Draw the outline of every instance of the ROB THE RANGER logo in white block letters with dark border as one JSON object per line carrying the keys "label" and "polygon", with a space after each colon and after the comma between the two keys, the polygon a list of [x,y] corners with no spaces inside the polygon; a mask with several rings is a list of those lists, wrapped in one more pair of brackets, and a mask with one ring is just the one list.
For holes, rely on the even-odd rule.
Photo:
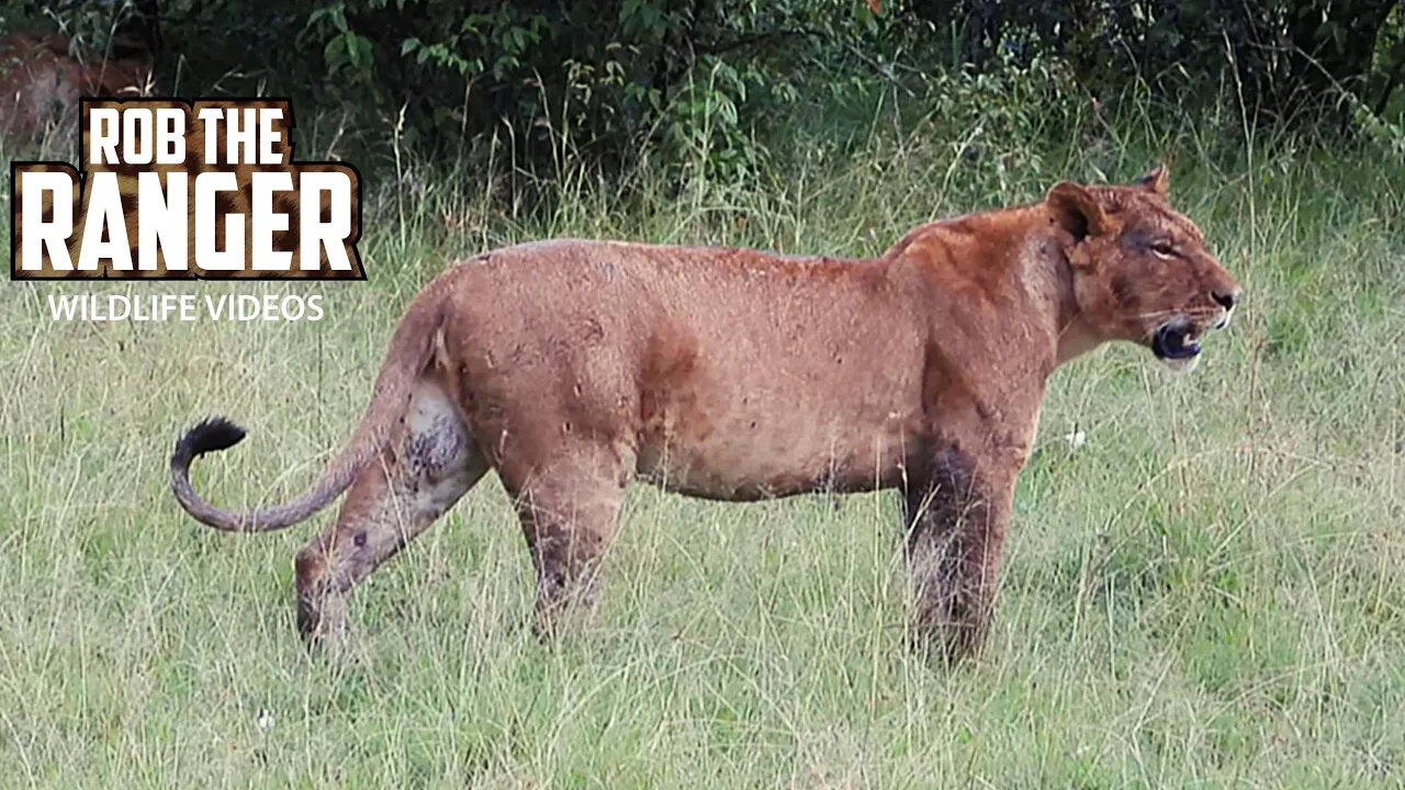
{"label": "ROB THE RANGER logo in white block letters with dark border", "polygon": [[[11,164],[13,280],[365,278],[360,174],[292,159],[288,101],[84,98],[80,112],[79,167]],[[76,304],[91,299],[110,298]]]}

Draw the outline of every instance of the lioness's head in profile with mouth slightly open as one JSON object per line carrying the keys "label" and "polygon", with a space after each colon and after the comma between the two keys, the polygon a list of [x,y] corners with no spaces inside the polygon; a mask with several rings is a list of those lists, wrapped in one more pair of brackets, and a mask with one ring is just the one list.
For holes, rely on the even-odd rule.
{"label": "lioness's head in profile with mouth slightly open", "polygon": [[1128,187],[1057,184],[1045,197],[1069,232],[1073,297],[1102,340],[1141,343],[1190,370],[1200,339],[1229,325],[1239,284],[1205,249],[1200,229],[1166,201],[1158,167]]}

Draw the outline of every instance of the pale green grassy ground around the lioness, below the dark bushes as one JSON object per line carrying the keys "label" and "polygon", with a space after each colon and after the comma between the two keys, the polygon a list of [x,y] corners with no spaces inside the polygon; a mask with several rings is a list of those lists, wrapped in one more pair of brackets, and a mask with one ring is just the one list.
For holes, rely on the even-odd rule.
{"label": "pale green grassy ground around the lioness, below the dark bushes", "polygon": [[[746,187],[641,176],[628,197],[566,167],[545,211],[506,179],[402,164],[368,201],[365,284],[6,283],[0,784],[1405,783],[1405,166],[1232,118],[962,139],[880,114],[851,150]],[[489,477],[358,590],[334,662],[303,651],[291,596],[292,554],[332,513],[218,534],[167,492],[171,441],[207,413],[250,427],[197,465],[212,500],[311,479],[455,254],[565,235],[877,254],[930,218],[1128,180],[1168,152],[1173,200],[1246,302],[1191,375],[1109,347],[1054,377],[972,665],[903,647],[892,493],[635,488],[599,626],[547,648]],[[153,290],[323,294],[327,318],[60,323],[44,302]]]}

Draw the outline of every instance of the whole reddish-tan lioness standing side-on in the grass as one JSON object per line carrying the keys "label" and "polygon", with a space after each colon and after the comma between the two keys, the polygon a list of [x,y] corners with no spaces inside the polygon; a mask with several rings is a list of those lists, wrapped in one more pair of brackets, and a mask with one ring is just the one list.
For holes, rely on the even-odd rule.
{"label": "whole reddish-tan lioness standing side-on in the grass", "polygon": [[1239,285],[1166,201],[1055,186],[1044,201],[923,225],[882,257],[785,257],[561,240],[481,254],[400,320],[350,443],[287,505],[235,513],[176,444],[171,488],[230,531],[295,524],[350,486],[296,557],[298,627],[341,635],[347,596],[489,468],[537,571],[540,634],[589,613],[625,485],[754,500],[901,488],[915,634],[960,658],[991,620],[1014,478],[1054,370],[1107,340],[1190,368]]}

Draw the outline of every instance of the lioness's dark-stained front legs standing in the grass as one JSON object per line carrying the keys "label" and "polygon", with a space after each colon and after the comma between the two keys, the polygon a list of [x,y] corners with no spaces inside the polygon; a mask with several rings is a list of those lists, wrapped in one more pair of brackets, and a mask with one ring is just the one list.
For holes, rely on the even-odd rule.
{"label": "lioness's dark-stained front legs standing in the grass", "polygon": [[948,661],[971,656],[991,626],[1014,470],[958,450],[936,453],[905,499],[913,635]]}

